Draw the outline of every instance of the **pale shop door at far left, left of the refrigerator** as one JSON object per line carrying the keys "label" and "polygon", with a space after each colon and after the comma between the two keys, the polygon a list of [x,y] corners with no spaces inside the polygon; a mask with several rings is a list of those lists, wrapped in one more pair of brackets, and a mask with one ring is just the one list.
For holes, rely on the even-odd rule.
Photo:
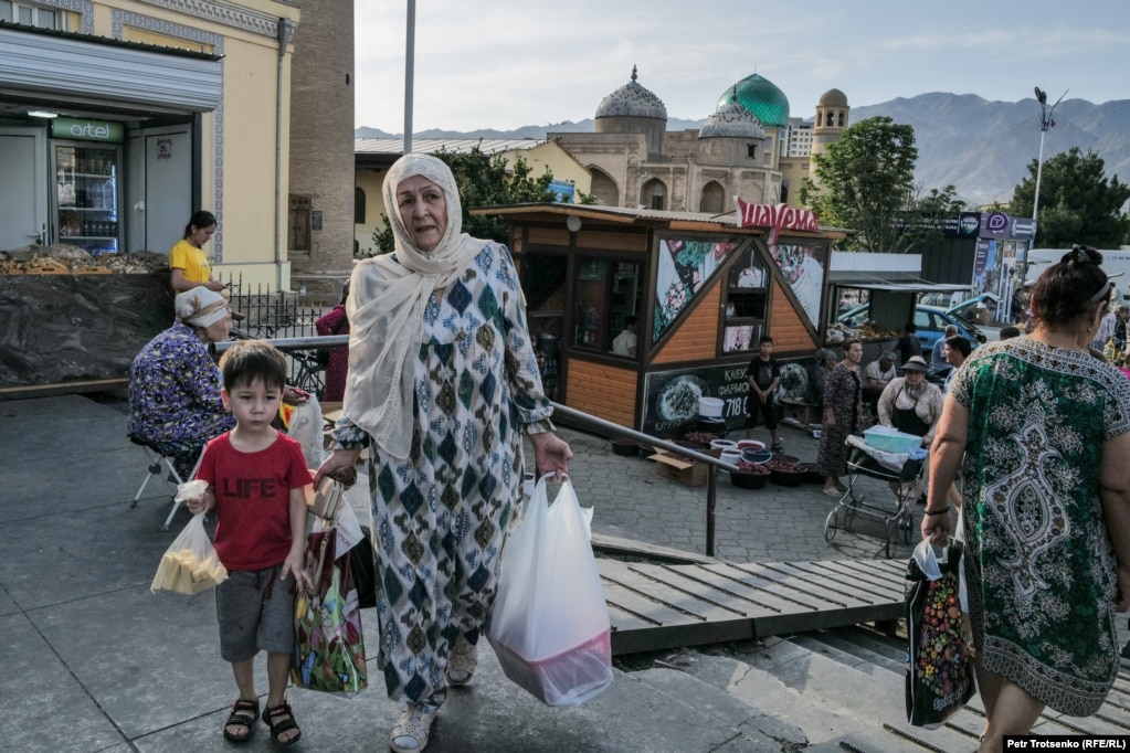
{"label": "pale shop door at far left, left of the refrigerator", "polygon": [[46,159],[42,131],[0,129],[0,249],[49,243]]}

